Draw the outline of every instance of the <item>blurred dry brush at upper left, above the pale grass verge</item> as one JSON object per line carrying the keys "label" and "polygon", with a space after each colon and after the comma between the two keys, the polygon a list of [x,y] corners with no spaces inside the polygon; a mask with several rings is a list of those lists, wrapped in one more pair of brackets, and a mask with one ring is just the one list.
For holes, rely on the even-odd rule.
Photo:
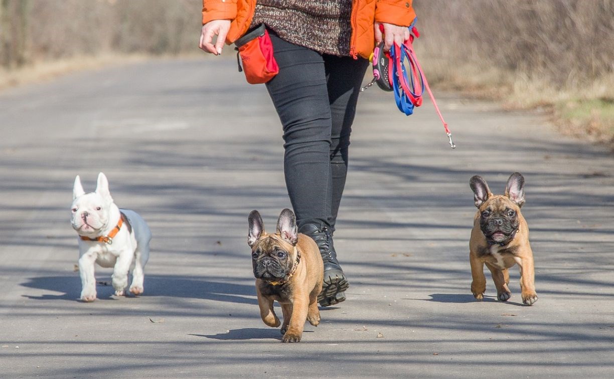
{"label": "blurred dry brush at upper left, above the pale grass verge", "polygon": [[[0,55],[17,49],[26,57],[22,62],[5,62],[6,67],[71,56],[195,51],[201,26],[201,0],[0,0],[0,4]],[[23,34],[25,42],[15,47]]]}

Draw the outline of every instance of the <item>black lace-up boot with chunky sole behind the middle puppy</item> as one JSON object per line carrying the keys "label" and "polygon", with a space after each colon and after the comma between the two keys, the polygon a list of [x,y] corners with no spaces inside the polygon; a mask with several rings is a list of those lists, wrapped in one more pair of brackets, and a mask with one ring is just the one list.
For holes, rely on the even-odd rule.
{"label": "black lace-up boot with chunky sole behind the middle puppy", "polygon": [[345,290],[348,289],[349,282],[337,261],[330,228],[325,225],[305,224],[298,231],[308,235],[316,242],[320,255],[322,255],[322,261],[324,261],[324,283],[322,283],[322,292],[317,296],[317,302],[322,307],[328,307],[328,305],[344,301],[346,299]]}

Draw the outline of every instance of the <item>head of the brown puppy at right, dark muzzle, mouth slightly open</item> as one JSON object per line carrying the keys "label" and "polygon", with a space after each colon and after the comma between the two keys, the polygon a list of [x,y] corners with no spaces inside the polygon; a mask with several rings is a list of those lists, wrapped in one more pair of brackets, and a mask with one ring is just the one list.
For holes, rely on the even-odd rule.
{"label": "head of the brown puppy at right, dark muzzle, mouth slightly open", "polygon": [[490,243],[510,242],[518,231],[520,207],[524,204],[524,177],[515,172],[504,195],[494,195],[486,180],[475,175],[470,180],[475,206],[480,212],[480,229]]}

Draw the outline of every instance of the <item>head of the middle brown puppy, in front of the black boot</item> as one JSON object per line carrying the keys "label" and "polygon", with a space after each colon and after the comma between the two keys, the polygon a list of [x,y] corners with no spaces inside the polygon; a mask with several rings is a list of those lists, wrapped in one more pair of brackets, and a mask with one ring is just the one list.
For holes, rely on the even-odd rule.
{"label": "head of the middle brown puppy, in front of the black boot", "polygon": [[260,213],[252,211],[248,218],[247,244],[252,248],[254,277],[263,280],[283,280],[290,274],[297,250],[298,232],[294,214],[284,209],[279,216],[276,234],[267,234]]}

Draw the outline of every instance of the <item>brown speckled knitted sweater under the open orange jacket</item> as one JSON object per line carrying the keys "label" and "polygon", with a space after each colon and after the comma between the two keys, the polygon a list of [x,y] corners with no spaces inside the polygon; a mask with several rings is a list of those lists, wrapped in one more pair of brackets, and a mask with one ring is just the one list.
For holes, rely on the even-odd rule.
{"label": "brown speckled knitted sweater under the open orange jacket", "polygon": [[251,26],[264,23],[292,44],[349,56],[351,12],[352,0],[258,0]]}

